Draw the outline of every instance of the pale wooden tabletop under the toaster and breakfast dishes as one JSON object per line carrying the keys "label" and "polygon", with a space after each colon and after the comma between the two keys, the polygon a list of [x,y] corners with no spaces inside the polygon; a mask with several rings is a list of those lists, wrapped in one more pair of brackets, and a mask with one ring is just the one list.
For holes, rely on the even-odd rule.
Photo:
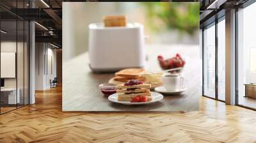
{"label": "pale wooden tabletop under the toaster and breakfast dishes", "polygon": [[[200,49],[197,45],[147,45],[146,70],[161,70],[157,55],[172,57],[177,52],[186,59],[182,72],[184,85],[188,90],[178,95],[164,95],[161,102],[150,105],[129,106],[112,103],[103,96],[98,86],[108,82],[114,73],[92,73],[88,67],[88,52],[65,60],[63,54],[63,111],[191,111],[198,110],[201,95],[202,66]],[[65,52],[65,48],[63,49]],[[67,54],[67,53],[66,53]]]}

